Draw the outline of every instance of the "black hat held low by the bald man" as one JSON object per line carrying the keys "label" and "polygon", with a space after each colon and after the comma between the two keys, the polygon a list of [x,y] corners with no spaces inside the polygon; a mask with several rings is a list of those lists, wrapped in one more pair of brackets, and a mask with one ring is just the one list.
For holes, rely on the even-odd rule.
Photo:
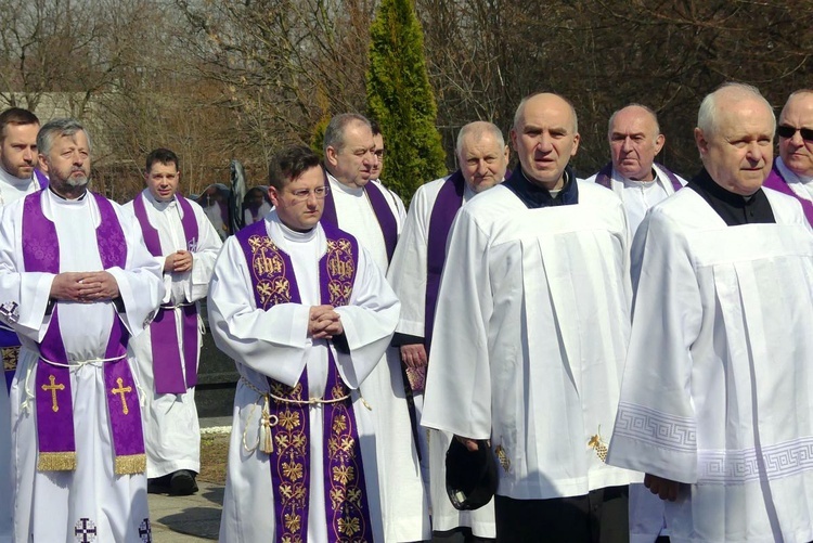
{"label": "black hat held low by the bald man", "polygon": [[477,440],[477,450],[469,451],[456,438],[446,453],[446,493],[459,510],[479,509],[496,492],[496,462],[491,445]]}

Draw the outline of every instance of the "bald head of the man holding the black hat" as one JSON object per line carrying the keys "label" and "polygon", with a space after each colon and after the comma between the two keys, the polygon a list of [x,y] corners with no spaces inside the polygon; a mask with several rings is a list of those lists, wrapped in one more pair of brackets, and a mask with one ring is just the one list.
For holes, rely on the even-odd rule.
{"label": "bald head of the man holding the black hat", "polygon": [[565,168],[579,148],[572,104],[549,92],[526,98],[514,115],[511,141],[529,181],[547,190],[560,189]]}

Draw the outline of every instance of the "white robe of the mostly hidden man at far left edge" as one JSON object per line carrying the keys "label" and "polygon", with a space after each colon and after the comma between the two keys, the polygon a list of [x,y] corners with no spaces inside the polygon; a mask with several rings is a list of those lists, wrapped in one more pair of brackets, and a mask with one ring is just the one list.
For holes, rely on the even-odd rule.
{"label": "white robe of the mostly hidden man at far left edge", "polygon": [[[11,204],[40,189],[37,177],[20,179],[0,167],[0,206]],[[0,326],[4,326],[0,323]],[[0,361],[2,355],[0,354]],[[11,482],[11,406],[5,383],[0,383],[0,495],[10,496]],[[0,502],[0,543],[10,543],[12,534],[11,500]]]}

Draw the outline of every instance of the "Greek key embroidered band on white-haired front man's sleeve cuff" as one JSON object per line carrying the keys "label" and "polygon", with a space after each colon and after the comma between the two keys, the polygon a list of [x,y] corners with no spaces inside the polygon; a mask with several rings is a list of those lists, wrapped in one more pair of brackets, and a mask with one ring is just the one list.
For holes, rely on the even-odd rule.
{"label": "Greek key embroidered band on white-haired front man's sleeve cuff", "polygon": [[680,452],[697,450],[697,425],[692,418],[670,415],[634,403],[618,404],[614,434]]}

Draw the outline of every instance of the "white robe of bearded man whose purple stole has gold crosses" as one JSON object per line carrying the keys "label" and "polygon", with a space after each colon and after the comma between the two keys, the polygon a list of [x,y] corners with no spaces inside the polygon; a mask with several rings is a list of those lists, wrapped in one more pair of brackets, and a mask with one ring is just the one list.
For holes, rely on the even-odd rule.
{"label": "white robe of bearded man whose purple stole has gold crosses", "polygon": [[[113,302],[59,302],[60,329],[68,360],[104,359],[114,319],[121,319],[131,335],[142,332],[164,296],[160,269],[144,247],[136,220],[113,203],[127,241],[125,269],[111,268],[125,313]],[[42,211],[54,221],[60,242],[60,271],[102,269],[95,229],[100,223],[95,199],[64,201],[42,192]],[[20,305],[14,328],[23,349],[11,388],[12,467],[15,541],[75,543],[75,529],[89,519],[96,541],[141,543],[139,530],[149,517],[146,478],[115,475],[109,416],[102,362],[70,370],[77,468],[75,471],[37,470],[36,383],[38,349],[50,323],[46,314],[50,273],[26,272],[23,261],[23,202],[5,206],[0,219],[0,300]],[[134,360],[129,360],[132,367]]]}

